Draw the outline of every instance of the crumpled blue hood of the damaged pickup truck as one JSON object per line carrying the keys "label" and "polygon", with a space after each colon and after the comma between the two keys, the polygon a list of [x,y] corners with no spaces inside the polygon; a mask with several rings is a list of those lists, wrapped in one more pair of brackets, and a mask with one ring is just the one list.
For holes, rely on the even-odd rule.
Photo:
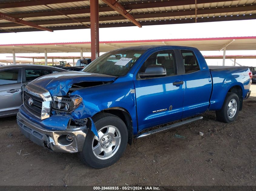
{"label": "crumpled blue hood of the damaged pickup truck", "polygon": [[45,75],[31,81],[29,84],[41,86],[42,88],[47,89],[52,96],[63,96],[67,95],[72,84],[86,81],[109,82],[114,81],[115,78],[117,77],[105,74],[72,71]]}

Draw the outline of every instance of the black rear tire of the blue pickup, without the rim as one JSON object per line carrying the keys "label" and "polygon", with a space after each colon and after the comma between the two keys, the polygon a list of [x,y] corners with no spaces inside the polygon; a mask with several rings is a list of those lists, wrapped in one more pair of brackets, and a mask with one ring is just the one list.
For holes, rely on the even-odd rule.
{"label": "black rear tire of the blue pickup, without the rim", "polygon": [[[228,116],[228,104],[232,99],[236,100],[237,110],[236,110],[236,113],[233,117],[229,117]],[[221,110],[216,111],[217,120],[220,121],[220,122],[224,122],[224,123],[233,122],[236,119],[237,115],[238,115],[239,107],[240,107],[240,101],[239,101],[239,98],[238,98],[237,94],[228,92],[227,96],[224,100],[224,103],[223,103],[223,106],[222,106]]]}

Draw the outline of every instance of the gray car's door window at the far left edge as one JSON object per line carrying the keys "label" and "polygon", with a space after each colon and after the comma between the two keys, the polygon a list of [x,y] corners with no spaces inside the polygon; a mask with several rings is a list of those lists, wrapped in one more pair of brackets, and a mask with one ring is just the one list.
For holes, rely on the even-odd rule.
{"label": "gray car's door window at the far left edge", "polygon": [[0,71],[0,85],[14,84],[18,82],[19,69]]}

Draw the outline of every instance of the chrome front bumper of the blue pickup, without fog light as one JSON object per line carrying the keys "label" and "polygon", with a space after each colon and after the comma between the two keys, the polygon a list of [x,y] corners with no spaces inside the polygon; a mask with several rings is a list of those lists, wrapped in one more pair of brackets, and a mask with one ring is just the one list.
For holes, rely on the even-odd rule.
{"label": "chrome front bumper of the blue pickup, without fog light", "polygon": [[[75,129],[74,131],[51,131],[44,129],[29,121],[20,112],[17,114],[17,123],[21,132],[32,142],[54,152],[76,153],[82,151],[88,132],[86,127]],[[67,145],[60,144],[59,137],[62,135],[71,135],[73,138],[72,142]]]}

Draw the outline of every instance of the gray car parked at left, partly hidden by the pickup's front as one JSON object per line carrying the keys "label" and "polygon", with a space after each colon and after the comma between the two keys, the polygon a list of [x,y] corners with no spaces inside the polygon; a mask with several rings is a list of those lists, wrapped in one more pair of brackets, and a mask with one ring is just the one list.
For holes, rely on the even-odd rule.
{"label": "gray car parked at left, partly hidden by the pickup's front", "polygon": [[22,89],[30,81],[47,74],[67,72],[62,68],[43,65],[7,65],[0,67],[0,117],[18,113]]}

